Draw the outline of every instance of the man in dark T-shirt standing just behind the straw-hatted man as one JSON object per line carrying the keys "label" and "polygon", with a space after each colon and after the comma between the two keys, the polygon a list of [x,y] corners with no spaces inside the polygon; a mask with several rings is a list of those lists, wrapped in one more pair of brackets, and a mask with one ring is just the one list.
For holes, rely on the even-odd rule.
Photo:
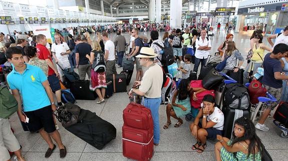
{"label": "man in dark T-shirt standing just behind the straw-hatted man", "polygon": [[[137,28],[133,28],[132,29],[132,36],[135,37],[134,43],[135,43],[135,47],[132,49],[132,51],[130,52],[130,54],[127,56],[128,58],[134,57],[139,55],[141,48],[144,46],[141,38],[138,36],[138,32],[139,30]],[[142,70],[142,66],[140,65],[140,61],[139,58],[136,57],[135,59],[136,62],[136,81],[140,81],[143,77],[143,70]]]}

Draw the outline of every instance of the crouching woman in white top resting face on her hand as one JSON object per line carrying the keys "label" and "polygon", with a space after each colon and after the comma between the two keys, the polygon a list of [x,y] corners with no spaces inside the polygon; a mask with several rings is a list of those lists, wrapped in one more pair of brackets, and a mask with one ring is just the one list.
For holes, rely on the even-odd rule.
{"label": "crouching woman in white top resting face on her hand", "polygon": [[[201,122],[200,118],[202,118]],[[205,95],[203,107],[194,122],[190,124],[192,136],[197,140],[197,143],[192,146],[192,150],[202,153],[207,146],[207,138],[215,140],[217,135],[222,135],[223,126],[224,115],[222,111],[215,107],[215,100],[212,95]]]}

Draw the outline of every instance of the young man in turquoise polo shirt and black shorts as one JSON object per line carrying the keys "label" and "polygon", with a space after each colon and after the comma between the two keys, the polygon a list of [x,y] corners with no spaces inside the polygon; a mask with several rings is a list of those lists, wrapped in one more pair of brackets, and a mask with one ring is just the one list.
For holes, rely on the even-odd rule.
{"label": "young man in turquoise polo shirt and black shorts", "polygon": [[55,128],[52,110],[55,111],[56,106],[47,76],[39,67],[24,63],[20,49],[10,47],[5,55],[14,66],[13,71],[7,76],[7,81],[18,101],[17,114],[20,120],[28,123],[31,131],[39,131],[47,142],[49,149],[45,158],[49,158],[56,148],[51,137],[58,144],[60,158],[64,158],[67,152]]}

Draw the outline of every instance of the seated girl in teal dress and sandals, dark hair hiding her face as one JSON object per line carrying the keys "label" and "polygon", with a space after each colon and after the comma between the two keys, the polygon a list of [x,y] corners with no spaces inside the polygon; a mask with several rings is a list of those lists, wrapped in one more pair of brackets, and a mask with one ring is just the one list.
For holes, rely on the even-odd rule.
{"label": "seated girl in teal dress and sandals, dark hair hiding her face", "polygon": [[175,128],[183,124],[181,117],[184,117],[191,111],[189,98],[191,91],[190,81],[182,79],[179,88],[173,94],[172,103],[166,107],[167,123],[163,126],[164,129],[168,129],[169,125],[171,125],[170,116],[178,120],[177,124],[174,125]]}

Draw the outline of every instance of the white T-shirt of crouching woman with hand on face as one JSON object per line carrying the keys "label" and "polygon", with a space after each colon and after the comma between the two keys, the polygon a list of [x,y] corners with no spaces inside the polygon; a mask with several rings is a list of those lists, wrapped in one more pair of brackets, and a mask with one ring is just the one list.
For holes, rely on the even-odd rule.
{"label": "white T-shirt of crouching woman with hand on face", "polygon": [[207,121],[212,121],[216,123],[216,125],[213,126],[213,128],[217,130],[223,130],[224,127],[224,115],[218,107],[214,107],[214,112],[207,116]]}

